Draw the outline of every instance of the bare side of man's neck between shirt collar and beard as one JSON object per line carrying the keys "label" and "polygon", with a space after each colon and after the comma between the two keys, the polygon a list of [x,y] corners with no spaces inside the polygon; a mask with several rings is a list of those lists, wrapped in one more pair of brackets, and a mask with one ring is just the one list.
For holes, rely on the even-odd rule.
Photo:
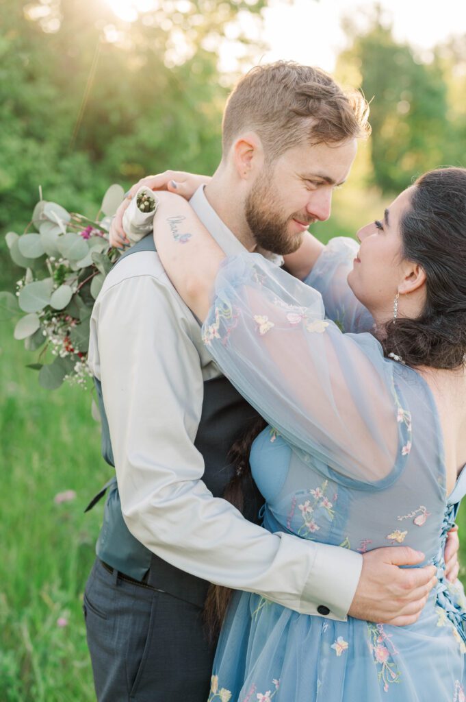
{"label": "bare side of man's neck between shirt collar and beard", "polygon": [[220,169],[204,188],[207,202],[245,249],[254,251],[256,242],[245,218],[245,202],[236,183]]}

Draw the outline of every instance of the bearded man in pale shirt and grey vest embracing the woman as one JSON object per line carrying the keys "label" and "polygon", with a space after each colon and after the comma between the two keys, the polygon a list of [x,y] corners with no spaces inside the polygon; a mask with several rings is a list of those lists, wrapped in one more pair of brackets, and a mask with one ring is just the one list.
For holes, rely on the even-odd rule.
{"label": "bearded man in pale shirt and grey vest embracing the woman", "polygon": [[[257,67],[228,100],[221,164],[191,205],[227,254],[294,251],[310,223],[329,217],[367,131],[364,100],[320,70]],[[151,243],[118,262],[92,313],[90,365],[118,488],[107,497],[84,610],[100,701],[205,702],[214,654],[203,629],[207,582],[307,614],[407,624],[434,569],[399,569],[422,561],[409,548],[359,555],[270,534],[221,499],[233,472],[228,449],[256,413],[220,376]],[[248,503],[254,519],[252,495]]]}

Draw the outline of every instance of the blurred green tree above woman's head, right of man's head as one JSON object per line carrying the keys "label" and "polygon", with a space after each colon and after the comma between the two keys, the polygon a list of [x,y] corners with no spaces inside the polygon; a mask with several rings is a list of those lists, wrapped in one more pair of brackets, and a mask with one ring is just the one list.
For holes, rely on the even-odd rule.
{"label": "blurred green tree above woman's head, right of man's head", "polygon": [[376,11],[369,30],[357,35],[346,25],[352,46],[341,54],[338,71],[359,70],[364,95],[371,100],[371,182],[398,192],[413,176],[445,163],[451,131],[448,91],[436,58],[423,62],[413,49],[392,37]]}

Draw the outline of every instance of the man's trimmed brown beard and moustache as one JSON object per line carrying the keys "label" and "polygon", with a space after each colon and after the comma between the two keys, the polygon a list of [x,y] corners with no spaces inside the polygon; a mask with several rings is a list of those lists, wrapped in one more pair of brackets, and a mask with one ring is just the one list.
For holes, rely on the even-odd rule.
{"label": "man's trimmed brown beard and moustache", "polygon": [[270,185],[273,176],[270,170],[256,180],[245,202],[245,217],[254,241],[258,246],[272,253],[285,254],[297,251],[303,242],[304,232],[289,234],[288,225],[296,216],[300,222],[310,220],[308,215],[294,213],[290,217],[275,211],[273,206],[278,201],[275,188]]}

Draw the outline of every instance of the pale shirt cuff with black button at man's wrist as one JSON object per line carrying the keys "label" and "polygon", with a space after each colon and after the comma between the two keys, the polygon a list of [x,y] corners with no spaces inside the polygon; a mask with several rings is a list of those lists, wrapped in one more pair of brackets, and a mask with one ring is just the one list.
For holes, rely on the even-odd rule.
{"label": "pale shirt cuff with black button at man's wrist", "polygon": [[340,546],[315,545],[315,559],[300,609],[308,614],[346,621],[361,576],[362,555]]}

